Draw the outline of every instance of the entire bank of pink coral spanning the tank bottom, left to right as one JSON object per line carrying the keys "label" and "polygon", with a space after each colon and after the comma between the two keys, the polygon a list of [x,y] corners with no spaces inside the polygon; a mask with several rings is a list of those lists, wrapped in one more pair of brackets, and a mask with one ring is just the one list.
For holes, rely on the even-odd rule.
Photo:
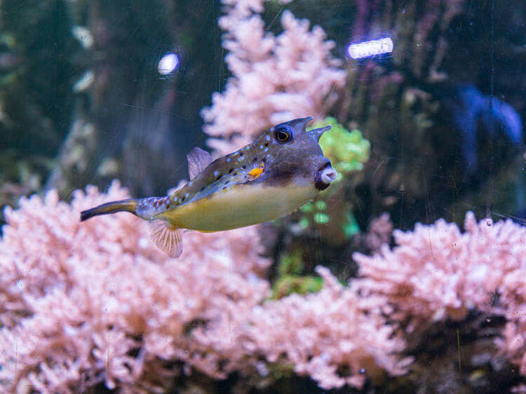
{"label": "entire bank of pink coral spanning the tank bottom, left to right", "polygon": [[[523,364],[526,229],[509,220],[477,223],[468,214],[464,233],[443,220],[395,231],[393,250],[354,254],[360,276],[349,287],[320,266],[310,289],[317,292],[271,300],[270,261],[259,255],[254,228],[187,233],[182,257],[166,259],[131,215],[79,224],[83,208],[126,196],[114,183],[107,194],[93,186],[76,191],[71,205],[50,191],[43,201],[22,198],[19,210],[6,209],[1,387],[163,392],[176,378],[238,372],[264,386],[294,373],[325,389],[359,388],[365,379],[382,384],[386,374],[405,374],[413,357],[403,352],[440,322],[473,321],[461,337],[471,363],[494,357],[464,333],[487,330],[468,313],[505,318],[495,345]],[[283,263],[282,277],[303,270],[300,254]],[[417,384],[412,374],[400,379],[390,384]]]}

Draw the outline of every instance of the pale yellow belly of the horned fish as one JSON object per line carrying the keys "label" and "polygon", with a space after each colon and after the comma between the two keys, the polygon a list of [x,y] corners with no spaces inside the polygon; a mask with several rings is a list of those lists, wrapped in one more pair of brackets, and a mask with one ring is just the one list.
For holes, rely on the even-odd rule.
{"label": "pale yellow belly of the horned fish", "polygon": [[163,212],[159,219],[197,231],[224,231],[277,219],[310,201],[314,186],[241,184]]}

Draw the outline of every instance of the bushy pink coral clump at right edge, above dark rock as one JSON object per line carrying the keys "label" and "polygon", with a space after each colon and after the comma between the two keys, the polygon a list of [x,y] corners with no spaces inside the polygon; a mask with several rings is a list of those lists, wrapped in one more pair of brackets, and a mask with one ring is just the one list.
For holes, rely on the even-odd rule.
{"label": "bushy pink coral clump at right edge, above dark rock", "polygon": [[388,297],[396,307],[393,317],[409,320],[409,330],[445,318],[461,320],[470,308],[489,311],[494,292],[504,301],[511,287],[520,291],[508,276],[526,269],[526,229],[511,220],[477,223],[472,212],[464,228],[461,233],[456,224],[439,219],[407,233],[394,231],[393,250],[384,245],[372,257],[353,254],[360,266],[359,286]]}

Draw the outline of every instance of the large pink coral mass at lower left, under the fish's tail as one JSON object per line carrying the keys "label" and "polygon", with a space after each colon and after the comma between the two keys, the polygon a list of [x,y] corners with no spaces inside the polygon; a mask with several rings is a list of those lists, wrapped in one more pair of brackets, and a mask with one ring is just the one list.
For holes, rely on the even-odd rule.
{"label": "large pink coral mass at lower left, under the fish's tail", "polygon": [[163,360],[208,368],[188,353],[184,332],[267,296],[255,272],[269,261],[259,257],[255,229],[186,233],[182,257],[167,259],[131,215],[79,223],[80,210],[126,197],[118,184],[105,195],[87,190],[72,205],[50,191],[44,201],[23,198],[20,210],[6,209],[0,382],[76,392],[105,381],[151,392],[175,374]]}

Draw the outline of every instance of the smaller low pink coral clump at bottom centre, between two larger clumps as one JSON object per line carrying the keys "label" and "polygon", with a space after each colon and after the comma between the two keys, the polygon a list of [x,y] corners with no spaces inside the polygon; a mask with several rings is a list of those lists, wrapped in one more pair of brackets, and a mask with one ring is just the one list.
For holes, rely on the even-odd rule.
{"label": "smaller low pink coral clump at bottom centre, between two larger clumps", "polygon": [[405,341],[386,325],[382,297],[363,299],[342,286],[330,271],[318,266],[324,280],[320,292],[291,294],[252,309],[240,325],[238,341],[269,362],[292,362],[299,375],[309,375],[321,388],[348,384],[361,387],[365,376],[406,372],[410,358],[396,353]]}

